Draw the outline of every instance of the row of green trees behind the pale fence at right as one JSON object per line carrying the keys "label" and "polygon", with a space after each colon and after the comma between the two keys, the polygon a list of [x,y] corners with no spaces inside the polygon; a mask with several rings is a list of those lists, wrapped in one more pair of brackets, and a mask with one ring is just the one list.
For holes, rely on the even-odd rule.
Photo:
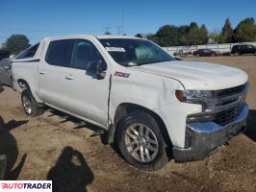
{"label": "row of green trees behind the pale fence at right", "polygon": [[243,19],[234,30],[230,19],[227,18],[220,33],[209,33],[204,24],[198,26],[195,22],[182,26],[164,25],[156,34],[148,35],[147,38],[163,47],[207,44],[209,42],[250,42],[256,41],[256,25],[253,17]]}

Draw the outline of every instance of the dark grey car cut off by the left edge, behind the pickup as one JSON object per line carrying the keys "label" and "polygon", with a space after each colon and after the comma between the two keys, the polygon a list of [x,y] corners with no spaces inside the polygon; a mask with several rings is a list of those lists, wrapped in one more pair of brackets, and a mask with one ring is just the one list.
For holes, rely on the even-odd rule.
{"label": "dark grey car cut off by the left edge, behind the pickup", "polygon": [[0,60],[0,84],[13,85],[11,59]]}

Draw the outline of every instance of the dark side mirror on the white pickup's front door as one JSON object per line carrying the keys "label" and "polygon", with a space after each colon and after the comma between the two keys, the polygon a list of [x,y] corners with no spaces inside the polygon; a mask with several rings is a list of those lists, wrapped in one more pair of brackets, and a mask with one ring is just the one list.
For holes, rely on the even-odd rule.
{"label": "dark side mirror on the white pickup's front door", "polygon": [[95,75],[98,80],[105,78],[106,70],[106,63],[102,60],[94,60],[88,63],[87,72],[91,75]]}

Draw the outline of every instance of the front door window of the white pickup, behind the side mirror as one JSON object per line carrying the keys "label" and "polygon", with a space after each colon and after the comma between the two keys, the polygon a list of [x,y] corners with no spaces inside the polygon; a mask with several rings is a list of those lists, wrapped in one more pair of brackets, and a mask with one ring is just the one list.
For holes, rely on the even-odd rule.
{"label": "front door window of the white pickup, behind the side mirror", "polygon": [[[97,48],[89,40],[77,39],[70,66],[76,69],[87,70],[88,64],[97,60],[102,60],[106,64]],[[105,69],[107,69],[107,64]]]}

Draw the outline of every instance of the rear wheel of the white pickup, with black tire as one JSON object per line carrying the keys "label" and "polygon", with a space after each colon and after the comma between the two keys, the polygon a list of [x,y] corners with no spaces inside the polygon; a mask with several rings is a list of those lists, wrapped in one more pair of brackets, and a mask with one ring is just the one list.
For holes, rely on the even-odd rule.
{"label": "rear wheel of the white pickup, with black tire", "polygon": [[29,116],[36,117],[43,114],[43,108],[38,108],[38,103],[34,99],[31,91],[25,89],[21,93],[21,103],[25,113]]}

